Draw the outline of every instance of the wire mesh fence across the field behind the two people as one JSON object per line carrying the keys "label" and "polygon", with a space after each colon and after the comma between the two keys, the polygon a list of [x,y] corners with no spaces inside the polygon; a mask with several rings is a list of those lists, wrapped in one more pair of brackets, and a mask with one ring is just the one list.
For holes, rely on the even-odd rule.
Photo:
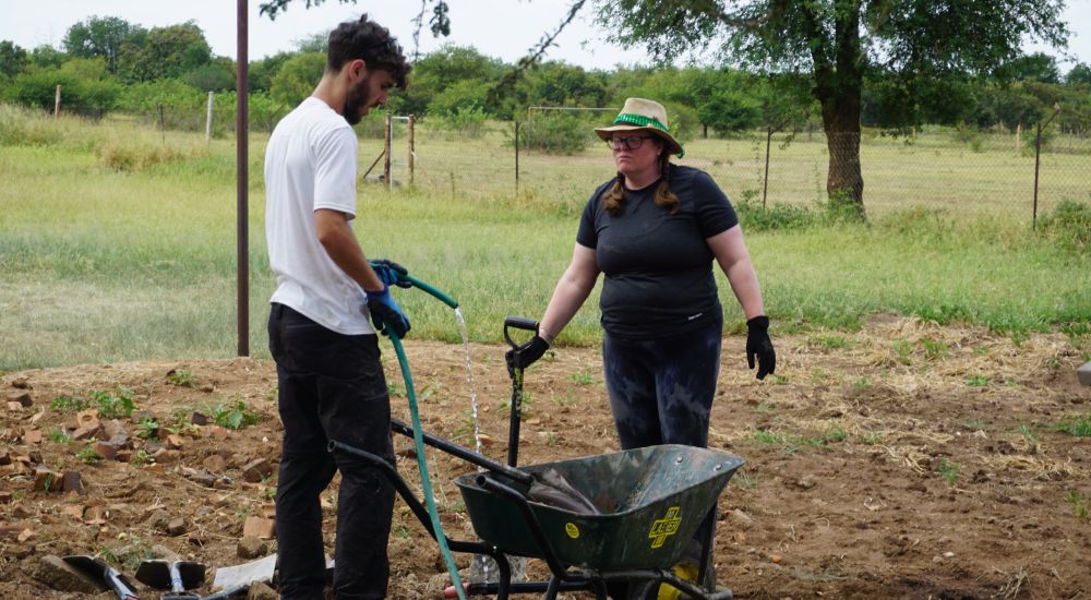
{"label": "wire mesh fence across the field behind the two people", "polygon": [[[611,153],[590,125],[584,149],[559,153],[533,149],[526,140],[517,148],[526,124],[491,122],[468,134],[417,121],[411,175],[407,120],[395,119],[392,130],[394,187],[411,179],[418,190],[452,197],[531,194],[582,206],[614,175]],[[925,128],[898,137],[865,132],[859,139],[864,207],[872,216],[923,207],[1031,221],[1066,200],[1091,202],[1091,135],[1046,130],[1040,153],[1035,142],[1033,128],[1018,134]],[[734,202],[814,206],[828,200],[829,154],[820,131],[753,131],[692,139],[685,157],[673,160],[707,171]]]}

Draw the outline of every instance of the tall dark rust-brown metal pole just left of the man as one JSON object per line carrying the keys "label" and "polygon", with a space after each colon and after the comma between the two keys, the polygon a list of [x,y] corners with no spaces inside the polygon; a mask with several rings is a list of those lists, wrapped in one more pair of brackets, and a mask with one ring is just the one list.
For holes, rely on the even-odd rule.
{"label": "tall dark rust-brown metal pole just left of the man", "polygon": [[236,247],[235,253],[238,261],[238,273],[236,284],[238,288],[236,305],[238,311],[238,333],[239,333],[239,356],[250,356],[250,242],[249,242],[249,211],[248,201],[250,192],[250,169],[249,169],[249,127],[250,113],[248,111],[247,91],[250,88],[248,48],[248,25],[247,25],[247,0],[238,0],[238,34],[236,41],[238,45],[238,85],[235,106],[235,149],[236,149]]}

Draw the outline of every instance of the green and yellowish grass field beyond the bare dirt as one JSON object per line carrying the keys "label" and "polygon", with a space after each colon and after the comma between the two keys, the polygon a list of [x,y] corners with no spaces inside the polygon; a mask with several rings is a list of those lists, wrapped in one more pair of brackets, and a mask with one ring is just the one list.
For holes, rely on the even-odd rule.
{"label": "green and yellowish grass field beyond the bare dirt", "polygon": [[[264,320],[273,290],[263,226],[265,140],[253,133],[250,143],[255,356],[267,356]],[[755,189],[753,143],[735,143],[733,159],[727,142],[687,146],[694,164],[714,172],[733,199]],[[1059,328],[1091,352],[1086,245],[1057,242],[1071,231],[1031,231],[1027,194],[1002,193],[1016,175],[1026,181],[1016,171],[1027,157],[931,139],[914,146],[871,143],[862,152],[870,224],[747,233],[774,336],[777,329],[852,329],[864,315],[892,312],[985,324],[1015,337]],[[714,144],[721,158],[707,158]],[[776,168],[783,175],[770,177],[799,189],[793,202],[800,205],[813,203],[825,177],[825,166],[816,173],[813,159],[789,159],[802,156],[804,145],[798,140],[780,151]],[[361,172],[379,149],[379,142],[363,142]],[[609,177],[609,157],[604,148],[573,158],[528,157],[516,193],[514,178],[503,175],[512,151],[500,134],[460,142],[418,135],[418,154],[416,188],[386,193],[361,184],[357,233],[370,256],[397,260],[458,299],[473,340],[497,341],[504,315],[541,314],[571,256],[576,213],[594,183]],[[1080,154],[1048,160],[1076,161],[1063,172],[1089,168]],[[935,171],[922,177],[922,165]],[[968,181],[967,173],[978,171],[994,175]],[[235,353],[233,141],[205,144],[200,134],[123,120],[53,122],[0,107],[0,371]],[[1043,200],[1043,213],[1065,199],[1088,204],[1091,196],[1078,188],[1091,178],[1081,176],[1072,175],[1070,192],[1043,194],[1051,199]],[[437,178],[434,187],[429,177]],[[924,193],[922,181],[937,191]],[[884,187],[900,192],[880,193]],[[770,202],[781,202],[784,194],[775,189],[771,183]],[[960,190],[969,189],[978,200],[963,197]],[[918,202],[926,197],[932,201]],[[722,274],[719,280],[729,327],[738,328],[741,311]],[[458,339],[451,311],[424,295],[398,293],[411,336]],[[599,339],[596,304],[597,291],[564,343]]]}

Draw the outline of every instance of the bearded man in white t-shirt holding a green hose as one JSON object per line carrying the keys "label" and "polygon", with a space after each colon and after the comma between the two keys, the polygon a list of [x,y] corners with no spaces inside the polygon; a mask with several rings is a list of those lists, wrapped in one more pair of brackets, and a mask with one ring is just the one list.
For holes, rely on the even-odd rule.
{"label": "bearded man in white t-shirt holding a green hose", "polygon": [[396,276],[372,268],[352,233],[358,141],[351,125],[385,105],[392,86],[404,87],[409,69],[385,27],[367,15],[341,23],[329,34],[317,87],[277,124],[265,151],[265,231],[277,277],[269,350],[284,422],[276,494],[281,598],[324,598],[319,496],[337,470],[334,591],[337,598],[386,595],[393,488],[358,458],[326,452],[326,444],[337,440],[394,461],[375,329],[404,336],[409,321],[387,289]]}

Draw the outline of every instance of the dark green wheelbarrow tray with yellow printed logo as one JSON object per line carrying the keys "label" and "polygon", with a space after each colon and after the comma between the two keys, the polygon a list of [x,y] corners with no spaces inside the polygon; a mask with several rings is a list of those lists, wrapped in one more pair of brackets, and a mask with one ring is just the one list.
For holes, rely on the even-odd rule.
{"label": "dark green wheelbarrow tray with yellow printed logo", "polygon": [[599,572],[668,568],[682,557],[702,520],[744,460],[733,454],[666,444],[520,466],[529,473],[556,469],[601,512],[582,515],[527,501],[536,524],[516,502],[482,488],[489,478],[526,496],[528,485],[503,475],[455,478],[473,530],[508,554],[543,557],[538,527],[566,565]]}

